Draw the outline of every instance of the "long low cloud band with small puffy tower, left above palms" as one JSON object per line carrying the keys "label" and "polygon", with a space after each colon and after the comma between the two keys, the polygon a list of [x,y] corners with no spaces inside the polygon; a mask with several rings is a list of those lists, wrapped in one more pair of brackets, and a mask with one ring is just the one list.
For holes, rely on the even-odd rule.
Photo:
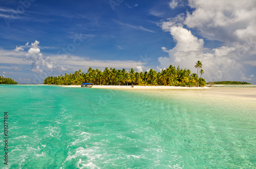
{"label": "long low cloud band with small puffy tower, left above palms", "polygon": [[[13,69],[13,71],[21,71],[31,65],[31,71],[36,73],[51,71],[67,71],[67,70],[87,70],[89,67],[103,69],[105,67],[112,68],[137,68],[141,71],[146,63],[135,61],[118,61],[118,60],[90,60],[88,57],[78,57],[75,55],[48,55],[44,57],[39,48],[39,42],[31,43],[28,51],[5,50],[0,49],[0,57],[2,64],[10,64],[5,69]],[[19,47],[17,47],[19,48]]]}

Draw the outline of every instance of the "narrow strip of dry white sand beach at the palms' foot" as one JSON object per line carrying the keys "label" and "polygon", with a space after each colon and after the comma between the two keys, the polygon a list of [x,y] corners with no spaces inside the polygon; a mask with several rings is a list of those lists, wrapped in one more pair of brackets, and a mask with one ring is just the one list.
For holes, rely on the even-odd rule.
{"label": "narrow strip of dry white sand beach at the palms' foot", "polygon": [[[67,88],[81,88],[80,85],[69,85],[62,86]],[[211,89],[209,87],[177,87],[177,86],[100,86],[94,85],[92,88],[100,88],[100,89]]]}

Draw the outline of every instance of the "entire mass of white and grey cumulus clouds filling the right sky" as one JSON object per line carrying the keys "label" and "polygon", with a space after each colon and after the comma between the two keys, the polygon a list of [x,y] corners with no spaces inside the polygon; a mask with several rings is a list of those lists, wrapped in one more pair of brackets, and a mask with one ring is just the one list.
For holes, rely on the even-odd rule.
{"label": "entire mass of white and grey cumulus clouds filling the right sky", "polygon": [[[172,1],[174,6],[176,1]],[[254,60],[256,51],[256,2],[189,0],[192,13],[179,14],[175,18],[160,21],[165,32],[170,32],[176,46],[162,47],[168,57],[160,57],[160,68],[172,64],[195,72],[195,62],[203,63],[203,75],[207,81],[251,80],[243,73],[244,59]],[[172,7],[170,7],[172,8]],[[187,27],[187,29],[185,28]],[[204,40],[189,29],[199,31],[202,38],[218,40],[222,46],[204,48]],[[248,61],[247,61],[248,63]],[[248,75],[249,76],[249,75]],[[253,77],[253,76],[252,76]]]}

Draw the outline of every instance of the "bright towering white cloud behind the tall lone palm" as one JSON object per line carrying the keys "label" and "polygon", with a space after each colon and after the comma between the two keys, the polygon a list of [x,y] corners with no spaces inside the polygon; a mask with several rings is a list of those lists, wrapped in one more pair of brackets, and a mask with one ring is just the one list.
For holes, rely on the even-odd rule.
{"label": "bright towering white cloud behind the tall lone palm", "polygon": [[[231,79],[233,77],[245,78],[242,73],[243,66],[233,58],[232,47],[222,46],[215,48],[211,53],[204,52],[204,41],[198,39],[190,31],[180,26],[173,26],[170,34],[176,41],[176,46],[168,50],[162,47],[163,51],[168,52],[169,57],[160,57],[159,68],[168,67],[170,64],[188,68],[196,73],[195,63],[200,60],[203,64],[204,75],[207,81],[219,81],[221,79]],[[239,76],[240,75],[240,76]],[[239,76],[239,77],[238,77]]]}

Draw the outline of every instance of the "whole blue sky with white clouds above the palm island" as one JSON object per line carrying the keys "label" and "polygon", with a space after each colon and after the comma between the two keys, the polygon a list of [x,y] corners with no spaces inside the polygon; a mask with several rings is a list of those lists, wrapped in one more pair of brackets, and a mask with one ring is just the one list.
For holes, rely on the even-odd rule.
{"label": "whole blue sky with white clouds above the palm island", "polygon": [[169,65],[256,84],[255,0],[0,0],[0,76],[43,83],[89,67]]}

